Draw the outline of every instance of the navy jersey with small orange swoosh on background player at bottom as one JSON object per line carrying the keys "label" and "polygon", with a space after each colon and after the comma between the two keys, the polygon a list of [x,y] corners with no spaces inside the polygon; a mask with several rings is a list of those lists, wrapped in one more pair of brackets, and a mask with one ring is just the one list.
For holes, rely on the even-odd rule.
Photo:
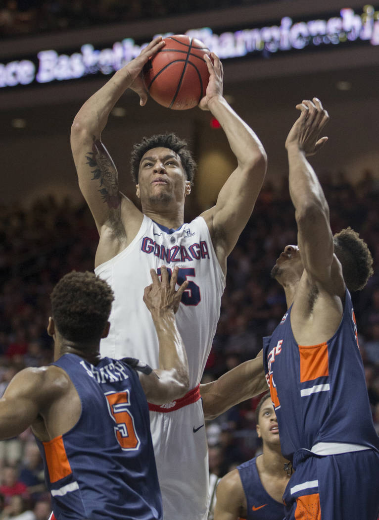
{"label": "navy jersey with small orange swoosh on background player at bottom", "polygon": [[283,520],[284,505],[270,497],[262,485],[256,458],[237,466],[247,502],[246,520]]}

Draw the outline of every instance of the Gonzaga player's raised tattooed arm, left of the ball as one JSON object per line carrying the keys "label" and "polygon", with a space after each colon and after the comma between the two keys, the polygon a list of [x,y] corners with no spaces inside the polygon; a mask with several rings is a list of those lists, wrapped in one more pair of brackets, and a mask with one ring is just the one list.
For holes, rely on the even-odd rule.
{"label": "Gonzaga player's raised tattooed arm, left of the ball", "polygon": [[140,77],[148,58],[163,46],[161,36],[155,38],[141,54],[115,72],[98,92],[93,94],[76,114],[71,128],[71,149],[79,178],[79,187],[95,219],[99,233],[104,224],[119,227],[121,200],[116,167],[101,141],[101,133],[109,114],[127,88],[147,100]]}

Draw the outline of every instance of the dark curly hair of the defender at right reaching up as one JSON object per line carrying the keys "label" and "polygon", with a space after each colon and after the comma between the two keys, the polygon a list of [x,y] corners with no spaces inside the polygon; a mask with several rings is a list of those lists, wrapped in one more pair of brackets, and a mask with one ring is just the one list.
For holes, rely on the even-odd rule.
{"label": "dark curly hair of the defender at right reaching up", "polygon": [[351,291],[360,291],[373,275],[372,256],[359,233],[348,227],[333,236],[334,253],[342,265],[342,274]]}

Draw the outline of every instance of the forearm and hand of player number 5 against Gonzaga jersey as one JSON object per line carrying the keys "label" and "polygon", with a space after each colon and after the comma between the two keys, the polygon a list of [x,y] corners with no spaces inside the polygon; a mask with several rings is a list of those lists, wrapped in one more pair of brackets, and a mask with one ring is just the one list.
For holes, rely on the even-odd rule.
{"label": "forearm and hand of player number 5 against Gonzaga jersey", "polygon": [[150,375],[140,374],[140,381],[147,400],[155,405],[163,405],[179,399],[189,389],[187,354],[175,321],[175,312],[188,282],[185,281],[175,291],[178,267],[174,268],[169,280],[167,268],[162,266],[161,282],[154,269],[150,272],[153,283],[145,288],[143,301],[150,310],[158,335],[159,369]]}

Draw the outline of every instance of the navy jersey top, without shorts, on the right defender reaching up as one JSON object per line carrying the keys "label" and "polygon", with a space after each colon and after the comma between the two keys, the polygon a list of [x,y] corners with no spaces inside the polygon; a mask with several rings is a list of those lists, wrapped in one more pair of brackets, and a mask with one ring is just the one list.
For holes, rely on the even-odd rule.
{"label": "navy jersey top, without shorts, on the right defender reaching up", "polygon": [[266,379],[283,456],[292,459],[296,450],[310,450],[318,443],[379,450],[348,290],[339,328],[320,345],[296,343],[291,309],[272,336],[263,339]]}

